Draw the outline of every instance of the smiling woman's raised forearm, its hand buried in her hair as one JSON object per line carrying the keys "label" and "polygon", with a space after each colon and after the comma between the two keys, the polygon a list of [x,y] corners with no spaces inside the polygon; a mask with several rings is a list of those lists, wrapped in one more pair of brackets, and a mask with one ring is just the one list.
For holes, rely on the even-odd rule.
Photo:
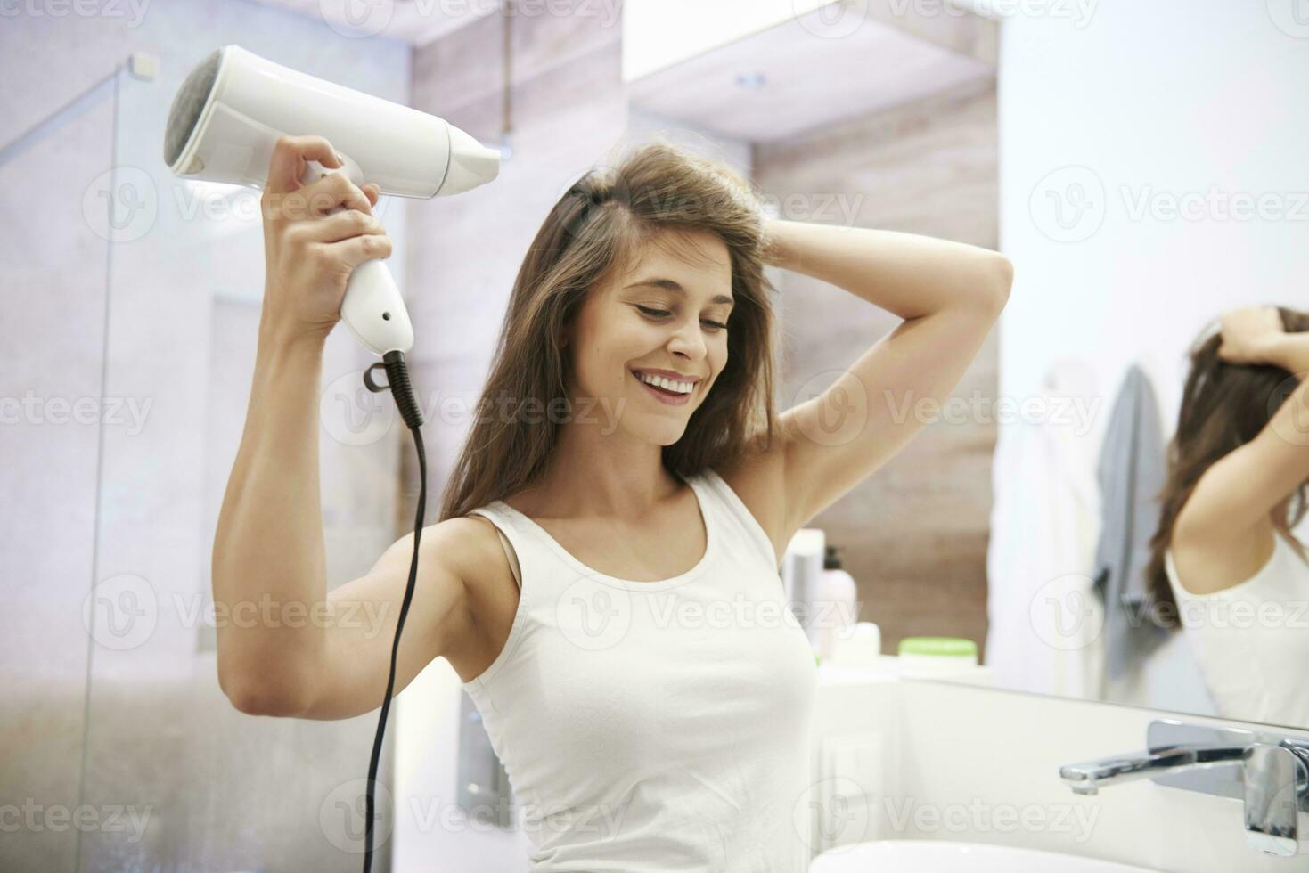
{"label": "smiling woman's raised forearm, its hand buried in her hair", "polygon": [[997,251],[872,228],[768,219],[766,260],[844,288],[901,318],[954,306],[995,310],[1013,268]]}

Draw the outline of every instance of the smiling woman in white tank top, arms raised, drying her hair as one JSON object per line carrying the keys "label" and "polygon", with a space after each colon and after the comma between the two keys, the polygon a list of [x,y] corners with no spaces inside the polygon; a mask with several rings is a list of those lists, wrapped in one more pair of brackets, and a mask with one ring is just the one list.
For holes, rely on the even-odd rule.
{"label": "smiling woman in white tank top, arms raised, drying her hair", "polygon": [[[326,594],[317,482],[322,343],[350,268],[389,254],[376,190],[296,191],[318,137],[272,158],[255,386],[215,542],[215,601],[327,620],[219,632],[243,712],[381,704],[412,534]],[[338,164],[331,162],[331,166]],[[298,220],[278,203],[317,200]],[[766,263],[905,318],[775,415]],[[550,211],[514,281],[479,418],[424,529],[397,694],[446,658],[478,704],[539,870],[802,870],[813,652],[783,620],[792,534],[922,429],[1009,293],[984,249],[764,220],[747,183],[657,144]],[[665,378],[654,378],[661,374]],[[886,402],[880,402],[886,398]],[[350,626],[359,603],[381,627]],[[356,623],[357,624],[357,623]]]}

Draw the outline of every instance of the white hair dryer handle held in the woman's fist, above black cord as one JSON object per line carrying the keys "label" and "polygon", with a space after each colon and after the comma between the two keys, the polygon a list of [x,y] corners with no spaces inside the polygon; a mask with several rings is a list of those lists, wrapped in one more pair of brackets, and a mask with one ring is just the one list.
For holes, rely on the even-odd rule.
{"label": "white hair dryer handle held in the woman's fist, above black cord", "polygon": [[[330,173],[344,173],[355,185],[361,183],[359,165],[342,154],[340,170],[325,168],[318,161],[305,161],[301,185],[317,182]],[[340,212],[339,205],[331,213]],[[407,352],[414,346],[414,325],[410,322],[404,298],[382,260],[365,260],[355,267],[346,283],[346,296],[340,301],[340,319],[355,339],[378,356],[386,352]]]}

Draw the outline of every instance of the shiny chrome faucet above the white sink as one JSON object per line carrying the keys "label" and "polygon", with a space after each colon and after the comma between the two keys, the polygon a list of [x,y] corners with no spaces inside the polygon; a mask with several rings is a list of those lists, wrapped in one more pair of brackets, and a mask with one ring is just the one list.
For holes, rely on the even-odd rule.
{"label": "shiny chrome faucet above the white sink", "polygon": [[1246,842],[1261,852],[1292,856],[1297,814],[1309,813],[1309,737],[1210,728],[1160,719],[1145,751],[1066,764],[1059,777],[1077,794],[1103,785],[1152,779],[1160,785],[1245,801]]}

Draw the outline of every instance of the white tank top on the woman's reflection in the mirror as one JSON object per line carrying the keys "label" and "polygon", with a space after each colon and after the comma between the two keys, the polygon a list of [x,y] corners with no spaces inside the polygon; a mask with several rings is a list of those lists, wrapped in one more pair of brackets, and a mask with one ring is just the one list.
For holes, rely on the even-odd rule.
{"label": "white tank top on the woman's reflection in the mirror", "polygon": [[1191,594],[1178,582],[1173,551],[1164,569],[1204,685],[1220,716],[1309,725],[1309,564],[1272,535],[1272,555],[1240,585]]}

